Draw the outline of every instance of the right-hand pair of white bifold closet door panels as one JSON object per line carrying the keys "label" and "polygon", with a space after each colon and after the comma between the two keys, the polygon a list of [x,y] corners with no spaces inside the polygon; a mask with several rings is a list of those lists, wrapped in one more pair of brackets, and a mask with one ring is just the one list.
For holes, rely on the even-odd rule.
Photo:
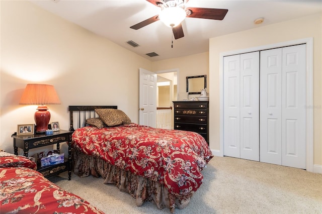
{"label": "right-hand pair of white bifold closet door panels", "polygon": [[305,45],[261,51],[261,162],[306,168],[305,59]]}

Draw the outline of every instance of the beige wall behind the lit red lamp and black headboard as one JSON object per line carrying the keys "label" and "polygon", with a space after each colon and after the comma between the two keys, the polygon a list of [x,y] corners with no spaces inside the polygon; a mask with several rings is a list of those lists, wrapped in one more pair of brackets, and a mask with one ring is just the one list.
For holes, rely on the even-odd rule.
{"label": "beige wall behind the lit red lamp and black headboard", "polygon": [[138,69],[152,70],[149,60],[28,1],[0,4],[1,149],[13,152],[17,125],[34,123],[37,106],[18,104],[27,83],[55,86],[61,104],[48,108],[62,129],[68,105],[118,105],[138,123]]}

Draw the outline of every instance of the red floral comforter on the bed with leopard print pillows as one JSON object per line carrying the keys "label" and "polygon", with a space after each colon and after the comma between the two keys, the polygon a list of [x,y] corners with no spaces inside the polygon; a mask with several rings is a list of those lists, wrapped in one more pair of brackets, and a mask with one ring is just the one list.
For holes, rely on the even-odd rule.
{"label": "red floral comforter on the bed with leopard print pillows", "polygon": [[189,198],[199,188],[201,170],[213,157],[205,139],[195,132],[134,123],[79,128],[72,135],[72,147],[164,184],[180,198]]}

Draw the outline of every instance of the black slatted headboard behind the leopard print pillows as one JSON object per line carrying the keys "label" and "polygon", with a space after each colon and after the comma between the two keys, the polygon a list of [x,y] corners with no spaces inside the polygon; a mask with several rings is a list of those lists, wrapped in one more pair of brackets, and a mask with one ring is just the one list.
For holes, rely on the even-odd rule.
{"label": "black slatted headboard behind the leopard print pillows", "polygon": [[96,117],[95,109],[117,109],[117,105],[69,105],[69,131],[75,131],[73,126],[74,112],[76,112],[76,118],[78,119],[77,128],[81,128],[85,126],[86,119]]}

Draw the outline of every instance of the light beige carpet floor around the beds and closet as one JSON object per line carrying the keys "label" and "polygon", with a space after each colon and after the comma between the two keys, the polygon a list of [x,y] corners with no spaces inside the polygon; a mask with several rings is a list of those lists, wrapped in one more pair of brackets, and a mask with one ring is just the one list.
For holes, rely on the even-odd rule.
{"label": "light beige carpet floor around the beds and closet", "polygon": [[[322,213],[322,174],[256,161],[214,157],[190,204],[175,213]],[[50,180],[106,213],[170,213],[135,199],[103,178],[64,172]]]}

